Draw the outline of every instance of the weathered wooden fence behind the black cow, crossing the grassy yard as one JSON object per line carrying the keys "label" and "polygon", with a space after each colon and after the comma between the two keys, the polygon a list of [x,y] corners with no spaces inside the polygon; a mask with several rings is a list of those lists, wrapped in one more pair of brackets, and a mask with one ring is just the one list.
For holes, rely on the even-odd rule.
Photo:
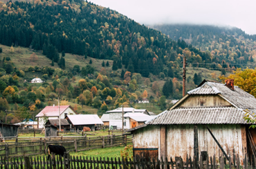
{"label": "weathered wooden fence behind the black cow, crossing the grassy yard", "polygon": [[132,137],[126,135],[109,135],[104,137],[53,137],[51,139],[18,140],[0,143],[0,157],[24,157],[47,153],[49,144],[62,145],[68,152],[83,151],[94,148],[126,145]]}

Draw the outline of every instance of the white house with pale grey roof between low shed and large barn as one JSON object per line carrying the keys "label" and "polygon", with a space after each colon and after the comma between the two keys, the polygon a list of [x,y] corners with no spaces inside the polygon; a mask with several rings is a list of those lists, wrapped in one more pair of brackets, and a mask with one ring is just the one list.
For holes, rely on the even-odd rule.
{"label": "white house with pale grey roof between low shed and large barn", "polygon": [[[141,113],[145,115],[149,115],[149,112],[147,112],[146,109],[135,109],[135,108],[123,108],[124,115],[127,112],[136,112]],[[113,129],[121,129],[122,128],[122,108],[116,108],[115,110],[109,110],[106,112],[106,114],[109,114],[109,128],[112,126]],[[127,119],[124,119],[124,124],[129,124],[129,121]],[[129,125],[128,125],[129,126]],[[124,128],[127,128],[128,126],[124,126]]]}

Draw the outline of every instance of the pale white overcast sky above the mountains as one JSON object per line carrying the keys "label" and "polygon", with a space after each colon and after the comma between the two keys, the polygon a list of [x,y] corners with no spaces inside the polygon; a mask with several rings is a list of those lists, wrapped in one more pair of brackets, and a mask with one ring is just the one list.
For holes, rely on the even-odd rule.
{"label": "pale white overcast sky above the mountains", "polygon": [[141,24],[197,23],[235,26],[256,34],[255,0],[88,0]]}

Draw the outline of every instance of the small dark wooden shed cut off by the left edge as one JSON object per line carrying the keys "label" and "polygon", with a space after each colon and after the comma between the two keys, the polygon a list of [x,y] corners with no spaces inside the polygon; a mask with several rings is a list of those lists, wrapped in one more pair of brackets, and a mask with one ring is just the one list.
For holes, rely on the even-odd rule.
{"label": "small dark wooden shed cut off by the left edge", "polygon": [[1,137],[16,137],[18,135],[19,125],[0,122]]}

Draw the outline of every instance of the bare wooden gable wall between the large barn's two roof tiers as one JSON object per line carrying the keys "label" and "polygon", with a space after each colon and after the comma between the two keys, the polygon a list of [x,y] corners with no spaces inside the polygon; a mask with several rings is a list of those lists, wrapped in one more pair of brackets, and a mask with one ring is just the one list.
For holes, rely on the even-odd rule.
{"label": "bare wooden gable wall between the large barn's two roof tiers", "polygon": [[196,106],[230,106],[228,101],[218,95],[191,95],[185,101],[181,102],[178,107],[196,107]]}

